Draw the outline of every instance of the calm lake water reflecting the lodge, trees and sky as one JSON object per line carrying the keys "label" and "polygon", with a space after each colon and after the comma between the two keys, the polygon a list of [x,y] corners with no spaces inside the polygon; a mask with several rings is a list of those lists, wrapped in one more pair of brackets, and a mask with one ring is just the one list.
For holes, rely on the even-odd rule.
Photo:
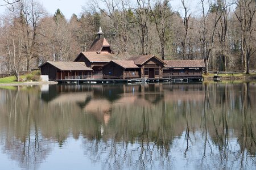
{"label": "calm lake water reflecting the lodge, trees and sky", "polygon": [[256,84],[0,88],[0,169],[255,169]]}

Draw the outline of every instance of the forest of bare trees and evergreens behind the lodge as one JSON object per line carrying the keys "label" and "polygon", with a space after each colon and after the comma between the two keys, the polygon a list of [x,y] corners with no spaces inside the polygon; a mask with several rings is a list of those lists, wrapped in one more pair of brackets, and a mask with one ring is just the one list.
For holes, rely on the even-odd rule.
{"label": "forest of bare trees and evergreens behind the lodge", "polygon": [[[37,0],[7,1],[0,18],[0,74],[38,69],[46,61],[73,61],[90,48],[99,27],[117,59],[154,54],[204,59],[209,70],[255,69],[255,0],[93,0],[81,14],[49,15]],[[73,2],[75,3],[75,2]]]}

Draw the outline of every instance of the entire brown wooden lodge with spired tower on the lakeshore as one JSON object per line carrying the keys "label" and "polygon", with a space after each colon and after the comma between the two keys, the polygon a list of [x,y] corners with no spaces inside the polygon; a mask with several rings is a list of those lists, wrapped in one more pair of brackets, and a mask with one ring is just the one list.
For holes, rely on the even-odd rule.
{"label": "entire brown wooden lodge with spired tower on the lakeshore", "polygon": [[73,62],[47,61],[41,74],[58,82],[142,82],[203,80],[203,59],[165,60],[154,55],[117,60],[102,31],[88,52],[81,52]]}

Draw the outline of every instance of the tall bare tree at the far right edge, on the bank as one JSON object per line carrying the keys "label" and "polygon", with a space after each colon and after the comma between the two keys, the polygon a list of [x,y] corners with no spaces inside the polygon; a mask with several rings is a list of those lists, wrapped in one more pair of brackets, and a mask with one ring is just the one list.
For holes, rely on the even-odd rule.
{"label": "tall bare tree at the far right edge, on the bank", "polygon": [[253,49],[253,35],[255,33],[254,16],[256,4],[254,0],[237,0],[237,11],[235,12],[241,29],[241,56],[243,71],[250,73],[250,57],[255,53]]}

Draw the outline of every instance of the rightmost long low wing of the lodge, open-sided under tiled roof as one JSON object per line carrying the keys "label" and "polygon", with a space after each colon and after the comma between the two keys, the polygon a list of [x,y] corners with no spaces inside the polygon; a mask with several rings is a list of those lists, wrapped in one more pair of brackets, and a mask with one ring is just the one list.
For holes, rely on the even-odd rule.
{"label": "rightmost long low wing of the lodge, open-sided under tiled roof", "polygon": [[166,60],[163,69],[164,78],[202,77],[205,63],[203,59],[195,60]]}

